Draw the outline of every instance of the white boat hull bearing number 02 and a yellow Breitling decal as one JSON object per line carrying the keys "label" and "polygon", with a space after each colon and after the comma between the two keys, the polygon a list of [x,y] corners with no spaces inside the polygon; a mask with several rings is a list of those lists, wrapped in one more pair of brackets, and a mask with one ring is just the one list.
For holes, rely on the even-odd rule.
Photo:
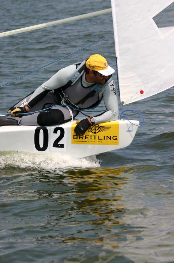
{"label": "white boat hull bearing number 02 and a yellow Breitling decal", "polygon": [[[139,125],[138,121],[131,120]],[[74,158],[118,150],[128,146],[138,126],[127,120],[100,123],[82,136],[73,132],[76,120],[56,126],[1,126],[0,151],[59,152]]]}

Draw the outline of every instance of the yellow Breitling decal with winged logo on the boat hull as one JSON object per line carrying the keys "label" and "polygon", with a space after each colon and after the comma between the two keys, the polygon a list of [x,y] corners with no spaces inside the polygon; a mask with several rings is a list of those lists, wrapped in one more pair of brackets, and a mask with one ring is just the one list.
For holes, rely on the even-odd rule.
{"label": "yellow Breitling decal with winged logo on the boat hull", "polygon": [[76,135],[74,128],[76,123],[71,126],[71,143],[72,144],[101,144],[101,145],[118,145],[119,122],[112,121],[99,123],[90,126],[83,135]]}

